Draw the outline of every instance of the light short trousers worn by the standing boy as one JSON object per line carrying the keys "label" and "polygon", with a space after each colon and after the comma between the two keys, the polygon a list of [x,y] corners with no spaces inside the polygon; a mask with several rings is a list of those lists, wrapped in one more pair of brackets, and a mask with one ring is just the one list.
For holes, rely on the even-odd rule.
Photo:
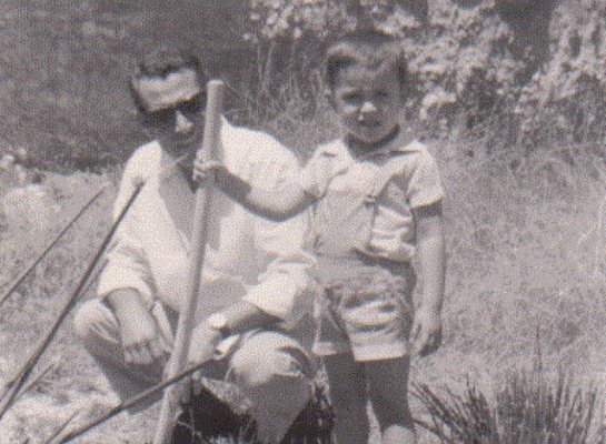
{"label": "light short trousers worn by the standing boy", "polygon": [[314,353],[351,352],[356,361],[410,353],[408,339],[415,316],[410,266],[397,274],[380,265],[362,266],[352,275],[319,276],[319,281],[324,291],[316,296]]}

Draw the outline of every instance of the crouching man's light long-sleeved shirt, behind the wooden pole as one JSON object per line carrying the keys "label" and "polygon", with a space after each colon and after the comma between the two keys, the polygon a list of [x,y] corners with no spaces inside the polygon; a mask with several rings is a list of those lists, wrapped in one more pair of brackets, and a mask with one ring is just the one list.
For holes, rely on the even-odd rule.
{"label": "crouching man's light long-sleeved shirt, behind the wooden pole", "polygon": [[[251,183],[277,186],[297,171],[294,155],[266,134],[223,120],[220,140],[226,165]],[[223,145],[229,147],[227,153]],[[187,291],[195,195],[173,159],[151,142],[127,164],[115,216],[136,176],[147,182],[117,232],[98,294],[133,287],[149,306],[158,297],[179,310]],[[310,310],[306,289],[312,258],[299,248],[307,214],[278,224],[252,215],[218,191],[211,202],[199,312],[210,314],[245,300],[284,320],[285,327],[296,324]]]}

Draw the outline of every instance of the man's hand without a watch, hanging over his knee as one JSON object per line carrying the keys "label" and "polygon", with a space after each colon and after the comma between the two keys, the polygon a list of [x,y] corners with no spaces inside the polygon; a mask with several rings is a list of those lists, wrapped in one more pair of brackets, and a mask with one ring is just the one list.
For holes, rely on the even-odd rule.
{"label": "man's hand without a watch, hanging over his knee", "polygon": [[156,319],[146,309],[137,291],[115,291],[108,296],[108,302],[120,324],[120,341],[127,363],[151,364],[170,354],[171,344],[160,333]]}

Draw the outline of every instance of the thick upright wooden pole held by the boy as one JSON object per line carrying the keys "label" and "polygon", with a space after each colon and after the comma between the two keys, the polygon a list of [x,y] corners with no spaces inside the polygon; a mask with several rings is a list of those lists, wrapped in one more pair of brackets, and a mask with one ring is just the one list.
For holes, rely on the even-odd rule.
{"label": "thick upright wooden pole held by the boy", "polygon": [[[223,88],[225,84],[221,80],[211,80],[207,84],[208,102],[206,107],[205,133],[201,150],[198,152],[198,157],[201,159],[211,159],[219,141]],[[175,376],[185,367],[189,351],[189,341],[193,327],[193,316],[198,303],[200,276],[206,251],[208,212],[213,184],[215,172],[211,172],[196,190],[196,206],[191,224],[192,254],[187,282],[188,300],[179,315],[175,347],[167,369],[168,377]],[[165,391],[153,444],[167,444],[170,441],[170,434],[175,425],[176,406],[179,401],[177,396],[178,393],[173,386]]]}

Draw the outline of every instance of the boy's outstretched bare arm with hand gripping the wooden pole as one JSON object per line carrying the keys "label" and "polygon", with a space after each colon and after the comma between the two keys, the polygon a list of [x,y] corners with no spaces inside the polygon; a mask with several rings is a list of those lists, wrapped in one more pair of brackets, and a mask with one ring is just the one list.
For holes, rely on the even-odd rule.
{"label": "boy's outstretched bare arm with hand gripping the wooden pole", "polygon": [[202,179],[211,169],[215,170],[215,182],[222,192],[249,211],[272,221],[290,219],[315,201],[315,198],[306,193],[295,181],[282,184],[278,190],[252,186],[215,161],[207,163],[196,161],[195,178]]}

